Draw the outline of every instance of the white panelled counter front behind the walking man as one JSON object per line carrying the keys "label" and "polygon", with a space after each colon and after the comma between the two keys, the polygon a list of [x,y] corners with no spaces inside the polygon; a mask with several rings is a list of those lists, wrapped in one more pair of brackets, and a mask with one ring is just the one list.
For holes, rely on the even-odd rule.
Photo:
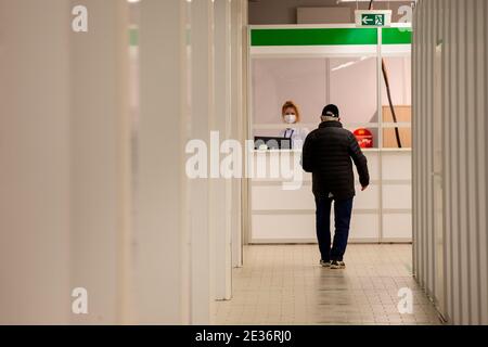
{"label": "white panelled counter front behind the walking man", "polygon": [[[361,192],[359,181],[356,182],[350,242],[411,242],[411,150],[373,149],[363,152],[369,162],[371,185]],[[251,179],[251,243],[317,242],[311,175],[299,166],[301,152],[256,151],[252,156],[255,172],[258,165],[266,162],[268,175]],[[296,178],[300,176],[298,171],[303,174],[301,187],[290,190],[292,180],[270,177],[271,168],[282,163],[290,163],[287,168],[294,170]],[[356,168],[355,175],[358,180]],[[333,226],[332,217],[332,232]]]}

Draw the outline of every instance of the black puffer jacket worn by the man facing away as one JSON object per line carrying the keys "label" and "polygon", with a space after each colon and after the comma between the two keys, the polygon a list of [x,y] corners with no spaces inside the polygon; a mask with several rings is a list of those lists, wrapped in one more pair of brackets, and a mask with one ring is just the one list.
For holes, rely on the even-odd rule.
{"label": "black puffer jacket worn by the man facing away", "polygon": [[370,184],[368,159],[356,137],[339,121],[324,121],[304,143],[301,166],[313,176],[316,197],[348,200],[356,195],[352,163],[356,164],[362,187]]}

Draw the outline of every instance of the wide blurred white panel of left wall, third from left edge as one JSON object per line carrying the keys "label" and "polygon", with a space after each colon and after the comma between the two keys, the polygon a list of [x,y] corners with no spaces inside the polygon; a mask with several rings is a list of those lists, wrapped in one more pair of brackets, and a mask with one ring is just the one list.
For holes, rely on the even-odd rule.
{"label": "wide blurred white panel of left wall, third from left edge", "polygon": [[141,2],[133,257],[137,322],[141,324],[181,324],[189,319],[184,278],[189,266],[183,163],[183,130],[188,125],[183,104],[185,5],[185,0]]}

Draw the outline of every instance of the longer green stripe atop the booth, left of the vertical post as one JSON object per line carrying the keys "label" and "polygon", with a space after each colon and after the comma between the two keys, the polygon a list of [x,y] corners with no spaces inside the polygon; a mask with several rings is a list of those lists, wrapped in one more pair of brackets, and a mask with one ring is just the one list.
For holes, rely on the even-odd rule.
{"label": "longer green stripe atop the booth, left of the vertical post", "polygon": [[376,28],[253,29],[251,44],[343,46],[377,44]]}

